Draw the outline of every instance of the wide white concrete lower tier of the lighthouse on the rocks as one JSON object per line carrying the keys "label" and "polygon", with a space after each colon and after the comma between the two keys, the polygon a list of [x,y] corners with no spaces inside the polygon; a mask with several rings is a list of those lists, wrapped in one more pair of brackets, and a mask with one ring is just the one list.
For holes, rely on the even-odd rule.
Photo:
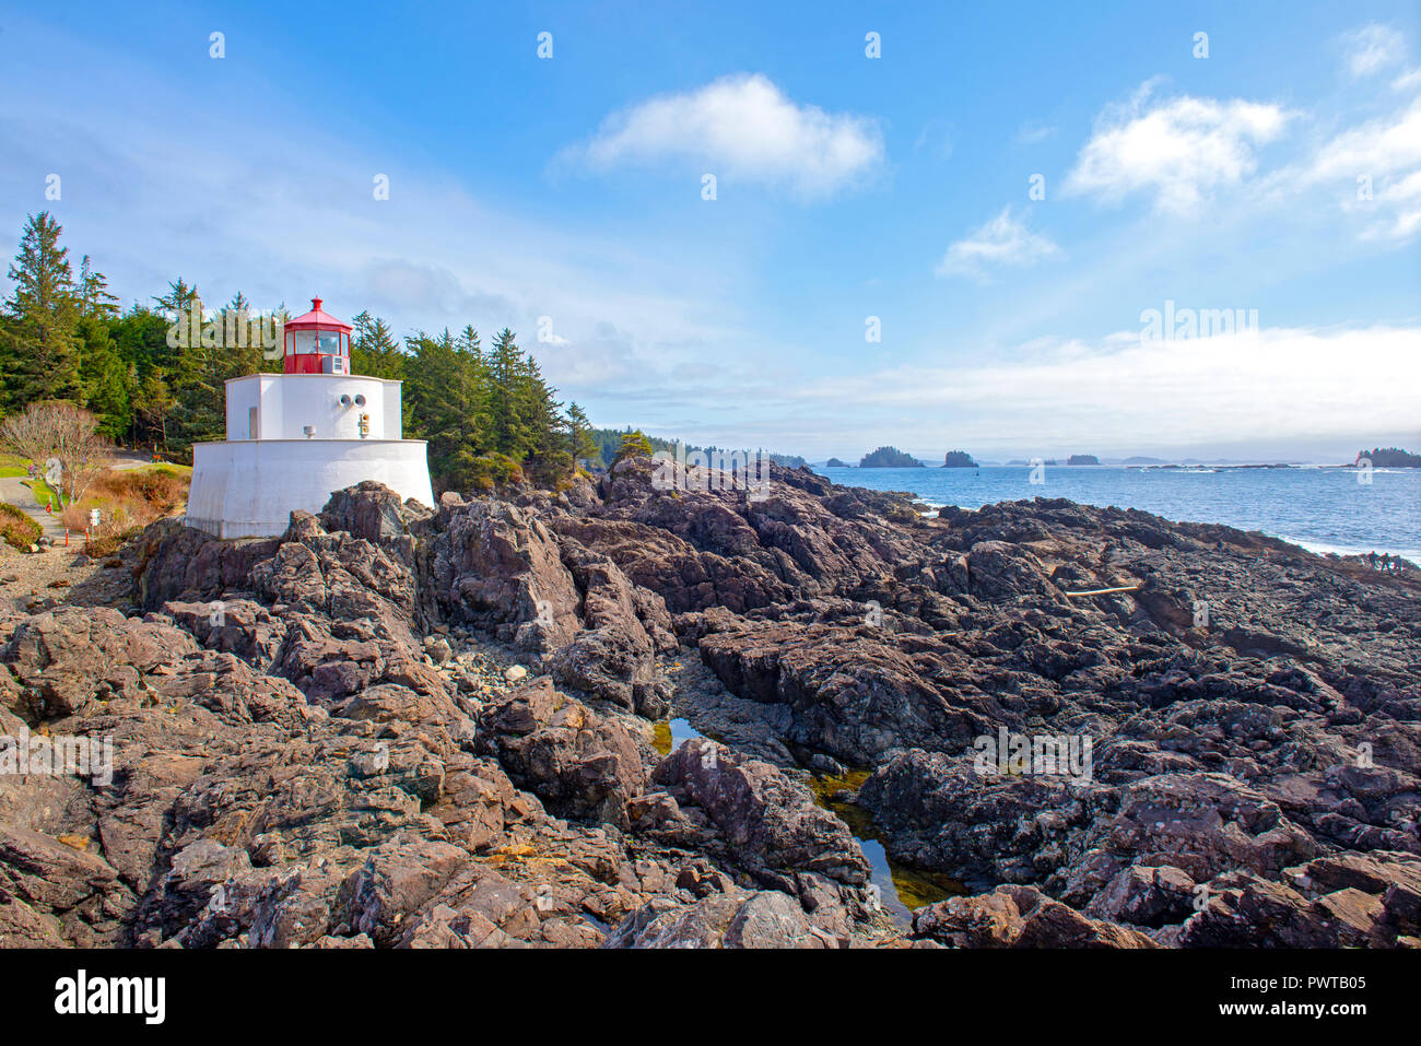
{"label": "wide white concrete lower tier of the lighthouse on the rocks", "polygon": [[243,439],[193,443],[188,526],[213,537],[280,537],[291,512],[374,479],[433,506],[422,439]]}

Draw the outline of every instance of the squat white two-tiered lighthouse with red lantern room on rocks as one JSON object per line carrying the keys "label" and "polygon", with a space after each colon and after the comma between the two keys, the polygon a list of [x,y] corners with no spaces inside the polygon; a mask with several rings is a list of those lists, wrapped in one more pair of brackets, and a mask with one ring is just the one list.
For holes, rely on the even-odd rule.
{"label": "squat white two-tiered lighthouse with red lantern room on rocks", "polygon": [[193,443],[186,523],[213,537],[277,537],[294,509],[374,479],[433,505],[425,441],[404,439],[401,382],[351,374],[351,325],[311,298],[286,323],[283,374],[226,385],[227,438]]}

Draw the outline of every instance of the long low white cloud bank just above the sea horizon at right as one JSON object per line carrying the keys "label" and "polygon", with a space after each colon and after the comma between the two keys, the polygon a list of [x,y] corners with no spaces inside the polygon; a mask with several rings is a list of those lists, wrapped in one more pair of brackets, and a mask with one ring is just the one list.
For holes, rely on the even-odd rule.
{"label": "long low white cloud bank just above the sea horizon at right", "polygon": [[[1226,306],[1232,303],[1221,303]],[[1421,328],[1262,328],[1142,343],[1140,331],[1060,340],[990,362],[898,367],[790,389],[810,402],[857,404],[854,433],[871,441],[902,418],[951,418],[953,445],[1134,452],[1155,446],[1260,445],[1415,432]],[[1384,379],[1340,381],[1354,361]],[[877,414],[875,414],[877,411]],[[870,443],[871,445],[871,443]]]}

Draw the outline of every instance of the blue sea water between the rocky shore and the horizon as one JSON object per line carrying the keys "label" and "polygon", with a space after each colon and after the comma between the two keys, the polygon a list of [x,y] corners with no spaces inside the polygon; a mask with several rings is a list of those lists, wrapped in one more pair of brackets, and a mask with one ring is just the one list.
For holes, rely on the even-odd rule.
{"label": "blue sea water between the rocky shore and the horizon", "polygon": [[1142,509],[1169,520],[1226,523],[1260,530],[1317,553],[1400,553],[1421,563],[1421,469],[1376,469],[1358,483],[1354,469],[1212,470],[1117,466],[1046,466],[1044,483],[1027,466],[980,469],[828,469],[844,486],[908,490],[932,506],[979,509],[996,502],[1069,497],[1081,505]]}

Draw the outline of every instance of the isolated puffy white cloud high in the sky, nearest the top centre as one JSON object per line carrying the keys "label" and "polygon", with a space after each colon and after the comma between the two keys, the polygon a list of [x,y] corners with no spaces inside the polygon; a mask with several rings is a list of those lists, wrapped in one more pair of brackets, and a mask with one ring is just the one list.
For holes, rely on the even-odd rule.
{"label": "isolated puffy white cloud high in the sky, nearest the top centre", "polygon": [[823,198],[877,171],[884,142],[872,119],[800,105],[764,75],[737,74],[612,114],[590,142],[560,159],[595,171],[693,161],[698,176],[709,172]]}

